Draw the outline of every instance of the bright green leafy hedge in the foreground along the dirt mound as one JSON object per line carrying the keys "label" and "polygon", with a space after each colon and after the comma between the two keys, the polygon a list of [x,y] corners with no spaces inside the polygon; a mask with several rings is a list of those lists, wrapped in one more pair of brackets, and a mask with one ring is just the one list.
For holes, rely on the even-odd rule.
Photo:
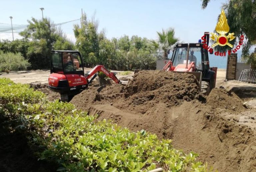
{"label": "bright green leafy hedge in the foreground along the dirt mound", "polygon": [[9,79],[0,79],[0,112],[13,129],[29,133],[39,159],[58,163],[58,171],[206,171],[197,154],[174,149],[171,140],[97,121],[70,103],[48,102],[42,92]]}

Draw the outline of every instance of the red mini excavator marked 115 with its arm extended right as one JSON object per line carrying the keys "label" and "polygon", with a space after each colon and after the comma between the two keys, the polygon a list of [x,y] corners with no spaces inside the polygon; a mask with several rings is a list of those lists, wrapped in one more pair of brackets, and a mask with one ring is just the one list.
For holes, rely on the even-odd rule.
{"label": "red mini excavator marked 115 with its arm extended right", "polygon": [[78,51],[52,51],[48,87],[60,93],[61,101],[68,102],[86,89],[99,72],[103,72],[117,84],[122,82],[103,65],[95,66],[87,75],[84,75],[83,60]]}

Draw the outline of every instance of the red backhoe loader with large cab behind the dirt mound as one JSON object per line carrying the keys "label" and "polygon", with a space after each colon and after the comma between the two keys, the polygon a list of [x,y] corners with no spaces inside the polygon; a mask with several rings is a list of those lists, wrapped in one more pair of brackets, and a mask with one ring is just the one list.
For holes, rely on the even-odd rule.
{"label": "red backhoe loader with large cab behind the dirt mound", "polygon": [[[208,95],[215,88],[217,67],[209,66],[209,32],[204,33],[204,38],[203,42],[200,39],[198,43],[176,44],[171,60],[165,61],[162,70],[195,75],[201,92]],[[134,73],[139,71],[135,70]]]}

